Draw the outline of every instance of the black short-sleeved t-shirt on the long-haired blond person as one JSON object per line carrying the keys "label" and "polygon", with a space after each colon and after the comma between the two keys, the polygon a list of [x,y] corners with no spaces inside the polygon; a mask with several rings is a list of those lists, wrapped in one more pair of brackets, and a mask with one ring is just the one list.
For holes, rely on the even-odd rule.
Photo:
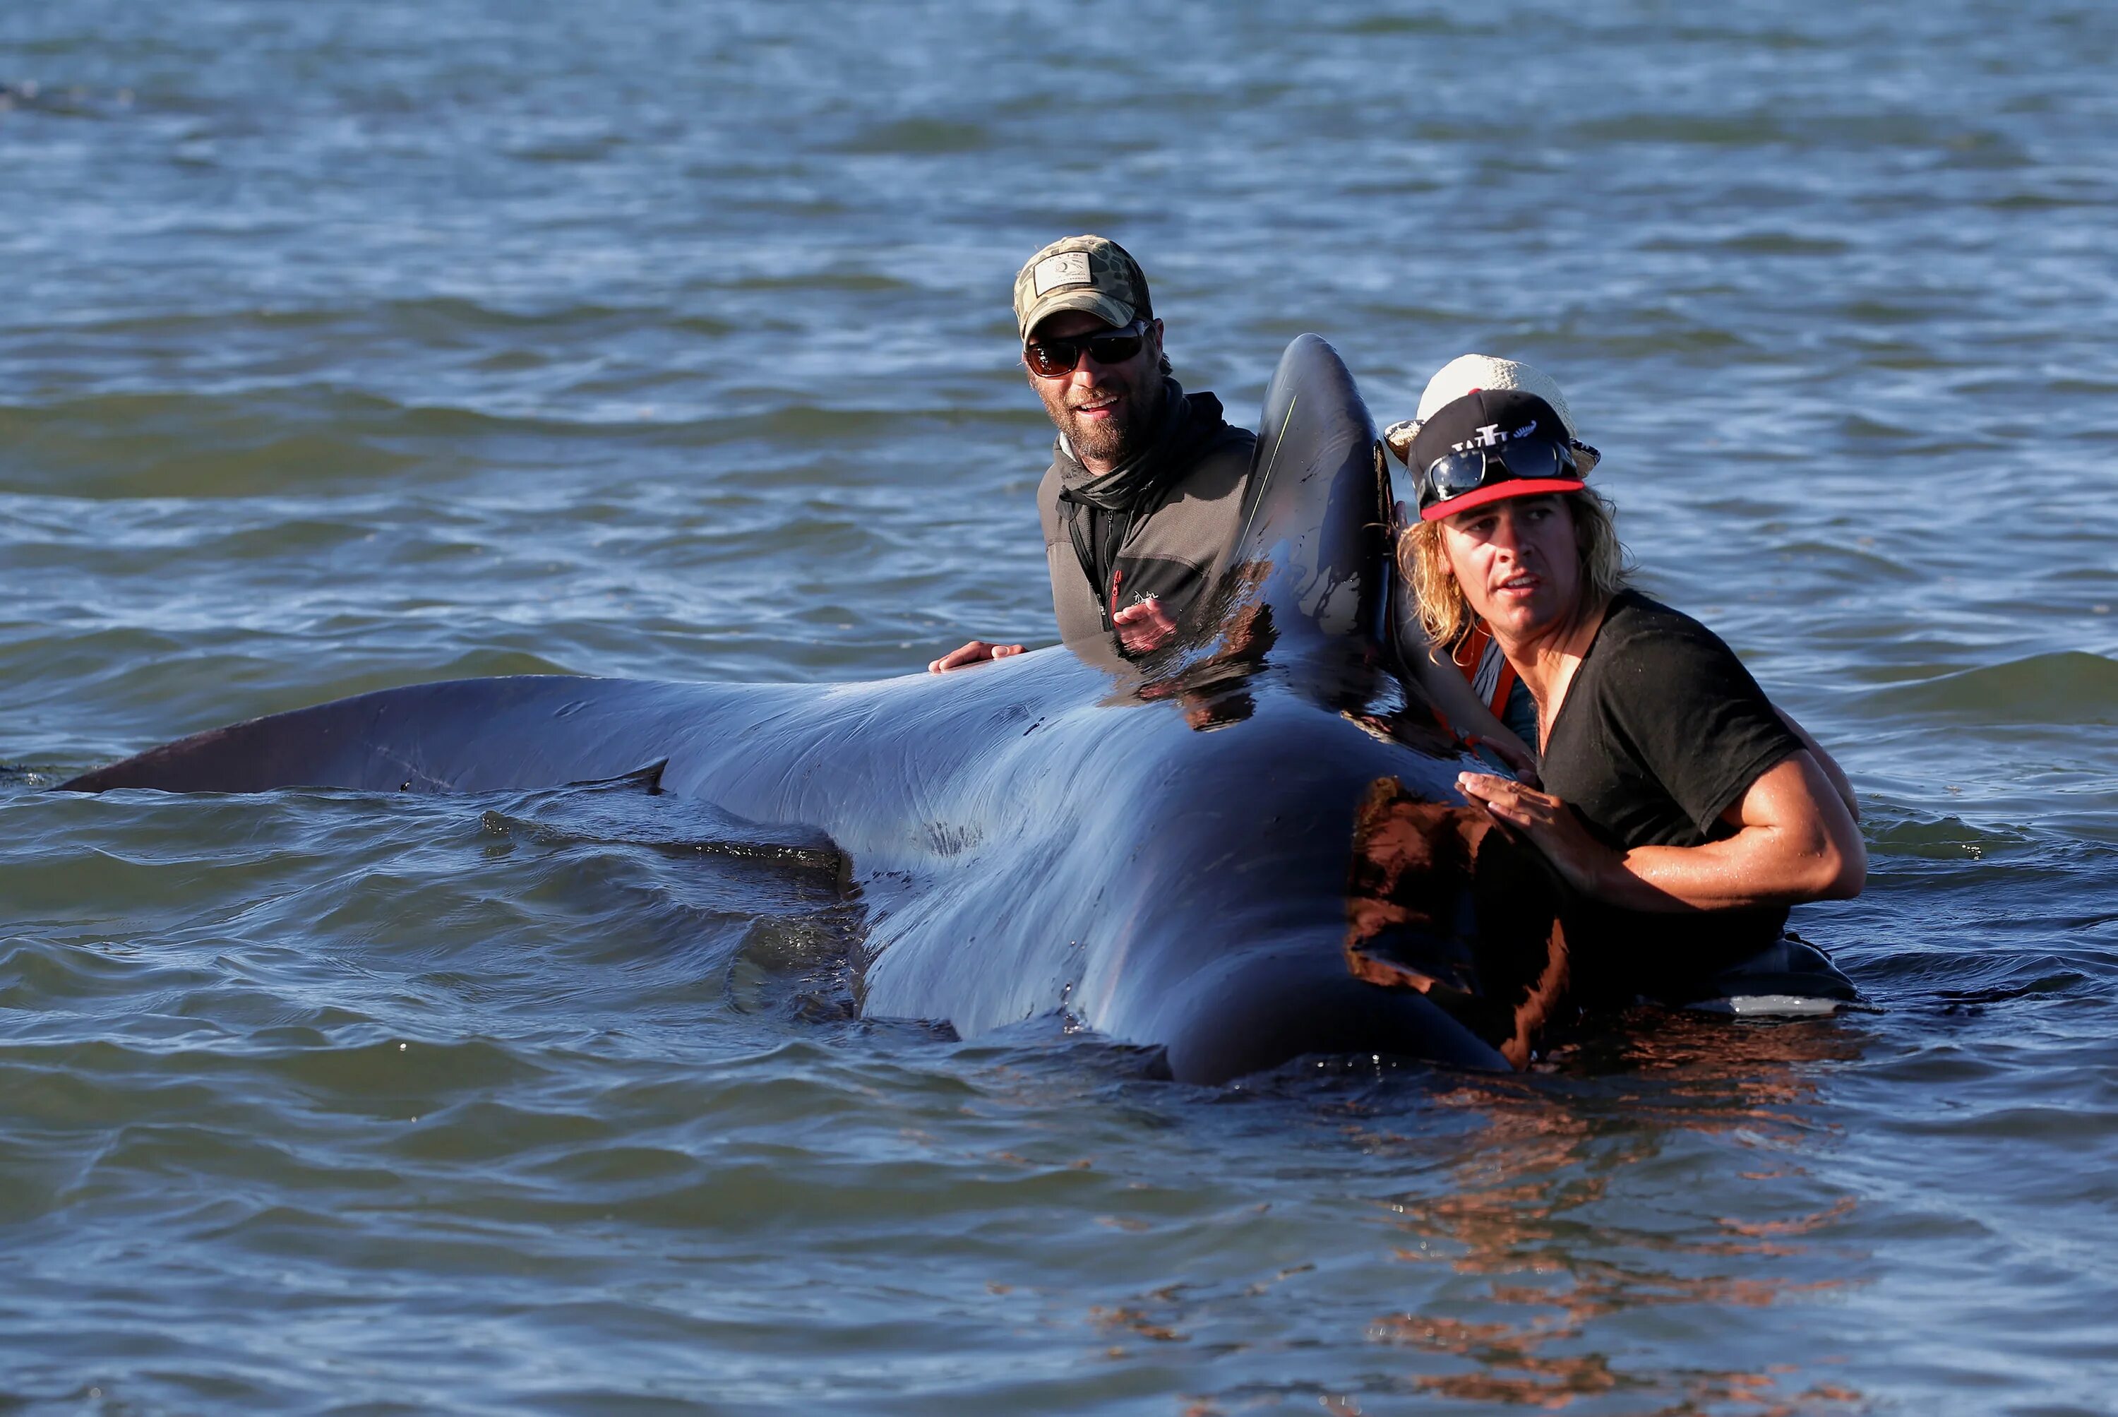
{"label": "black short-sleeved t-shirt on the long-haired blond person", "polygon": [[[1722,811],[1796,752],[1802,741],[1720,635],[1620,591],[1567,684],[1540,775],[1612,849],[1699,847],[1733,837]],[[1785,907],[1680,915],[1595,907],[1578,953],[1582,964],[1625,959],[1648,970],[1635,983],[1654,983],[1724,968],[1779,938],[1785,921]]]}

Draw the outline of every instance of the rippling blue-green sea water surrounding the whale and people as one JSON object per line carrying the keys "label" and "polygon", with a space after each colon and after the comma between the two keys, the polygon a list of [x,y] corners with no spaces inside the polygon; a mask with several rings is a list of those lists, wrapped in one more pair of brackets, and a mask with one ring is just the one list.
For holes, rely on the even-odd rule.
{"label": "rippling blue-green sea water surrounding the whale and people", "polygon": [[[2105,4],[0,11],[0,1406],[2107,1413]],[[1008,280],[1529,358],[1868,801],[1881,1012],[1156,1082],[595,792],[66,799],[464,674],[1048,640]],[[1603,474],[1599,474],[1603,477]]]}

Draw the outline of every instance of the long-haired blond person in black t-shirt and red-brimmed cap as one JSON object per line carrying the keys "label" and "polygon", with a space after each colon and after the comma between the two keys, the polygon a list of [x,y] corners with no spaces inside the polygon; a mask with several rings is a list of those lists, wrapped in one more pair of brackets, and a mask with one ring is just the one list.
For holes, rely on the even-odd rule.
{"label": "long-haired blond person in black t-shirt and red-brimmed cap", "polygon": [[1582,481],[1597,453],[1546,375],[1455,360],[1392,445],[1419,513],[1398,563],[1425,633],[1480,627],[1536,701],[1542,790],[1457,786],[1593,902],[1578,974],[1663,993],[1639,985],[1724,968],[1779,940],[1788,907],[1860,894],[1836,765],[1713,631],[1625,587],[1610,504]]}

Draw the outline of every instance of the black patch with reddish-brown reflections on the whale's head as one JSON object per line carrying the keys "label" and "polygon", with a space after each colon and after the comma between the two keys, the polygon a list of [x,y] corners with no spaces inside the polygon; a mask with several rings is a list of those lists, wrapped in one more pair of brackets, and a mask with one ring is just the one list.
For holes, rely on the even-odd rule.
{"label": "black patch with reddish-brown reflections on the whale's head", "polygon": [[1472,807],[1377,777],[1353,815],[1345,964],[1417,989],[1516,1068],[1567,991],[1563,896],[1533,847]]}

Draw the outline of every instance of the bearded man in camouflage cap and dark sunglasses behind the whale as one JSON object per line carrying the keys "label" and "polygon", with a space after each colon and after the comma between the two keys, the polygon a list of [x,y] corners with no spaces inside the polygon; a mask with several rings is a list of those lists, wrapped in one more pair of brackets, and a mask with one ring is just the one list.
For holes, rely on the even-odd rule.
{"label": "bearded man in camouflage cap and dark sunglasses behind the whale", "polygon": [[[1175,635],[1235,551],[1256,434],[1169,377],[1148,277],[1108,237],[1031,256],[1015,277],[1015,328],[1059,428],[1038,487],[1059,638],[1144,654]],[[928,667],[1021,650],[972,640]]]}

